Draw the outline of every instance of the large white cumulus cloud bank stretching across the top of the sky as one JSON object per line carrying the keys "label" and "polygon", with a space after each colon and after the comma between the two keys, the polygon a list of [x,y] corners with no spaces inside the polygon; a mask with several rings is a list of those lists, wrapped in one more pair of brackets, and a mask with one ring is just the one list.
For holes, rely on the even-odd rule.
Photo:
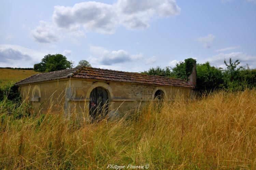
{"label": "large white cumulus cloud bank stretching across the top of the sky", "polygon": [[[155,18],[178,15],[181,9],[175,0],[117,0],[114,4],[95,1],[76,3],[74,6],[54,6],[52,23],[40,21],[31,31],[33,39],[40,43],[57,41],[57,32],[74,30],[74,35],[84,36],[86,31],[113,34],[119,25],[127,29],[141,30],[150,27]],[[56,31],[58,30],[58,31]]]}

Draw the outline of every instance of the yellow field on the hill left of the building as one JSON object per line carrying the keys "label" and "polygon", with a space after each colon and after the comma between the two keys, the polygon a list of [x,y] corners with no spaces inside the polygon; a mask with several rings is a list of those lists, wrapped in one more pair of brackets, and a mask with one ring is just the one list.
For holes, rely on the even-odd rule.
{"label": "yellow field on the hill left of the building", "polygon": [[39,72],[34,70],[0,68],[0,87],[4,86],[8,82],[15,83],[37,73]]}

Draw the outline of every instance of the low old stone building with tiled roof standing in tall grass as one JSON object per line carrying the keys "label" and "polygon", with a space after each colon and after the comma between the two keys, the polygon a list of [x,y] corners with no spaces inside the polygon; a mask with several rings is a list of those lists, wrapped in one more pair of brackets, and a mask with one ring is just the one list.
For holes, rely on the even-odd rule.
{"label": "low old stone building with tiled roof standing in tall grass", "polygon": [[[95,116],[96,107],[108,105],[108,111],[132,109],[140,102],[178,93],[186,100],[194,96],[196,65],[189,81],[141,73],[106,70],[91,67],[35,74],[17,82],[23,100],[29,100],[40,112],[89,113]],[[90,112],[88,112],[90,111]]]}

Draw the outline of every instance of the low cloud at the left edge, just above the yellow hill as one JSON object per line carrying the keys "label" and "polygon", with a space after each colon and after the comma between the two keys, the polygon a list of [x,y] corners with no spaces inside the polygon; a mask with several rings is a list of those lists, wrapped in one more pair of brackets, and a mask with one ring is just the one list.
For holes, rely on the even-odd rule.
{"label": "low cloud at the left edge, just above the yellow hill", "polygon": [[17,45],[0,45],[0,67],[32,67],[43,53]]}

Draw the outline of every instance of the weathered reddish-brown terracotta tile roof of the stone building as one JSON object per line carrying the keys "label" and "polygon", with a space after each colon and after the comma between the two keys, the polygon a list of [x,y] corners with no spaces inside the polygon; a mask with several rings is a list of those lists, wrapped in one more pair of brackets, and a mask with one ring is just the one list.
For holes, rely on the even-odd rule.
{"label": "weathered reddish-brown terracotta tile roof of the stone building", "polygon": [[123,72],[115,70],[106,70],[92,67],[76,67],[72,69],[53,71],[43,74],[35,74],[31,77],[17,82],[15,85],[30,84],[42,81],[64,79],[64,78],[82,78],[95,79],[115,82],[128,82],[138,84],[151,84],[160,86],[177,86],[194,88],[193,85],[187,83],[185,80],[161,77],[156,75],[146,75],[134,72]]}

